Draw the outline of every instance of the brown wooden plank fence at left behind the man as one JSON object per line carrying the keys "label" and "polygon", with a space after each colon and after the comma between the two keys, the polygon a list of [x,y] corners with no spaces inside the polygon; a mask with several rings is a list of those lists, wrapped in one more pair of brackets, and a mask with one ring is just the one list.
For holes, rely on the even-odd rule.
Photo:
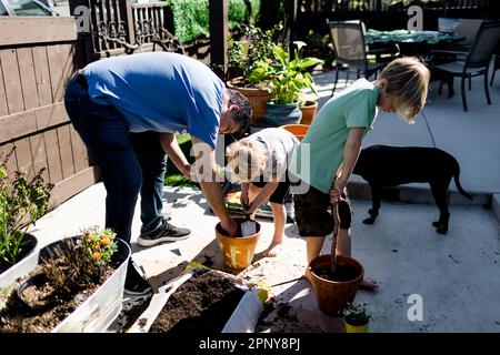
{"label": "brown wooden plank fence at left behind the man", "polygon": [[93,184],[97,171],[70,124],[63,90],[87,60],[72,18],[0,17],[0,153],[9,171],[42,168],[58,205]]}

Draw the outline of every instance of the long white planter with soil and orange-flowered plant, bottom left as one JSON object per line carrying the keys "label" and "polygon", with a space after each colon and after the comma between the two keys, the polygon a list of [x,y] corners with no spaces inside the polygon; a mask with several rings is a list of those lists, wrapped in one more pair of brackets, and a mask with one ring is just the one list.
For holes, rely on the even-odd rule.
{"label": "long white planter with soil and orange-flowered plant, bottom left", "polygon": [[91,227],[0,275],[0,333],[104,332],[119,315],[130,247]]}

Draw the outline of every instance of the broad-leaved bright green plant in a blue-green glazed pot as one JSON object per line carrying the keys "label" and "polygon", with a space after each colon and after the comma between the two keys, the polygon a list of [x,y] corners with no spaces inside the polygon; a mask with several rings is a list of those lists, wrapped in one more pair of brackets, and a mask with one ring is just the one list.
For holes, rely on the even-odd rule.
{"label": "broad-leaved bright green plant in a blue-green glazed pot", "polygon": [[299,52],[306,43],[296,41],[293,44],[293,59],[281,45],[273,44],[271,60],[258,61],[249,77],[251,82],[269,82],[272,99],[268,101],[264,114],[269,125],[299,123],[302,116],[300,105],[306,101],[302,90],[309,88],[317,94],[314,81],[307,70],[322,63],[322,60],[311,57],[301,59]]}

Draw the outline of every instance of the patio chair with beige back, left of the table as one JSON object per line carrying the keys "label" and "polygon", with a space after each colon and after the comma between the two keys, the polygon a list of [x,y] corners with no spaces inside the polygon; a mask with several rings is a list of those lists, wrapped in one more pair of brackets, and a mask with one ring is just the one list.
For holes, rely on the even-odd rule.
{"label": "patio chair with beige back, left of the table", "polygon": [[336,78],[331,92],[333,95],[339,80],[339,70],[347,71],[347,80],[350,72],[356,72],[358,79],[360,74],[368,79],[377,74],[387,61],[369,61],[361,21],[327,21],[327,23],[330,27],[333,52],[337,58]]}

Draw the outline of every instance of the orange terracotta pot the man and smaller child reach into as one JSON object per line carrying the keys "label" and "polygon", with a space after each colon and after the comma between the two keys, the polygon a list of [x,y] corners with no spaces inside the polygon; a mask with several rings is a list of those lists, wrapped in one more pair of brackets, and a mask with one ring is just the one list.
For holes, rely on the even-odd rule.
{"label": "orange terracotta pot the man and smaller child reach into", "polygon": [[[244,219],[234,219],[234,221],[241,224]],[[232,237],[223,232],[220,223],[216,225],[216,236],[228,267],[246,268],[252,263],[260,239],[260,224],[258,222],[256,222],[256,231],[257,233],[250,236]]]}

